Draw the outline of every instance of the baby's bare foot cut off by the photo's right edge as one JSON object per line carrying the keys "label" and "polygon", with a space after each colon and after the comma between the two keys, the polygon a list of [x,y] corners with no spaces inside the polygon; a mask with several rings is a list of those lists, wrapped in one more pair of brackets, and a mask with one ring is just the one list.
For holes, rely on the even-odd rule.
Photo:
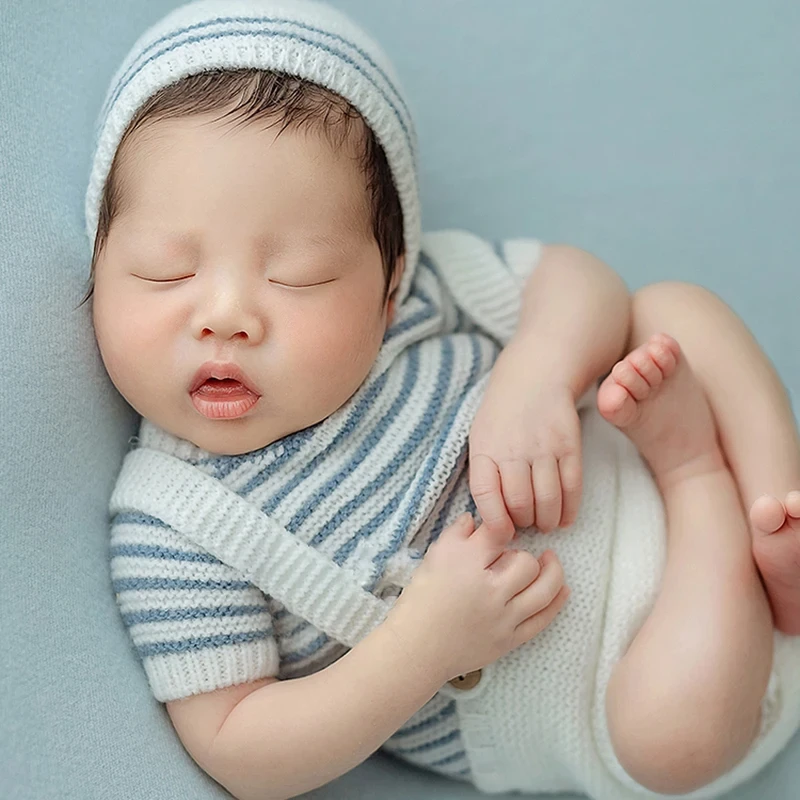
{"label": "baby's bare foot cut off by the photo's right edge", "polygon": [[781,503],[765,494],[750,509],[753,558],[767,589],[775,627],[800,636],[800,492]]}

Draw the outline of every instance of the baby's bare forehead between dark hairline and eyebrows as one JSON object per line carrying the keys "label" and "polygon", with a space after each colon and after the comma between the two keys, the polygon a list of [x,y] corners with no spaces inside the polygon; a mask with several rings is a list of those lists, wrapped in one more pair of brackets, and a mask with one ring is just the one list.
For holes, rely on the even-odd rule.
{"label": "baby's bare forehead between dark hairline and eyebrows", "polygon": [[[218,113],[151,119],[127,137],[113,172],[116,216],[129,232],[160,214],[196,222],[222,197],[227,209],[248,218],[315,217],[307,228],[324,225],[323,237],[333,226],[345,239],[372,232],[370,187],[355,145],[337,149],[319,130]],[[279,206],[283,214],[275,213]]]}

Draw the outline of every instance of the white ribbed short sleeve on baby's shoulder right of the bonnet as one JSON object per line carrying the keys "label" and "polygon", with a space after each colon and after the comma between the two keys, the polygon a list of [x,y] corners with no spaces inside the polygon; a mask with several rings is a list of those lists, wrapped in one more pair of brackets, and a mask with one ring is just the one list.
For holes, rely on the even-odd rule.
{"label": "white ribbed short sleeve on baby's shoulder right of the bonnet", "polygon": [[478,328],[501,346],[508,344],[542,243],[528,238],[492,243],[466,231],[447,230],[425,234],[422,253],[460,312],[460,327]]}

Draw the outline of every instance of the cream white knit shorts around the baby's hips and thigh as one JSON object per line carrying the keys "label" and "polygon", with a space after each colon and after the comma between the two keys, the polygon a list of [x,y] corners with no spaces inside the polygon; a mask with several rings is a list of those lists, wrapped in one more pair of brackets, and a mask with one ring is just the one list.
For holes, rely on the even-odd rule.
{"label": "cream white knit shorts around the baby's hips and thigh", "polygon": [[[473,782],[490,793],[576,792],[596,800],[659,797],[617,761],[605,690],[656,597],[666,554],[661,497],[629,440],[594,409],[582,413],[584,493],[568,530],[519,537],[558,553],[572,594],[539,636],[482,671],[457,703]],[[748,780],[800,725],[800,637],[775,634],[761,732],[731,772],[687,797],[716,797]]]}

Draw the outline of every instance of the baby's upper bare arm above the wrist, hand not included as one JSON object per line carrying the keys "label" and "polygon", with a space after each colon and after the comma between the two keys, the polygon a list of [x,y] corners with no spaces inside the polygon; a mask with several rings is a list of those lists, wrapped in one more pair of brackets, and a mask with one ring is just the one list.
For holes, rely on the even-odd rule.
{"label": "baby's upper bare arm above the wrist, hand not included", "polygon": [[577,399],[625,354],[630,310],[630,293],[611,267],[576,247],[547,245],[502,358]]}

